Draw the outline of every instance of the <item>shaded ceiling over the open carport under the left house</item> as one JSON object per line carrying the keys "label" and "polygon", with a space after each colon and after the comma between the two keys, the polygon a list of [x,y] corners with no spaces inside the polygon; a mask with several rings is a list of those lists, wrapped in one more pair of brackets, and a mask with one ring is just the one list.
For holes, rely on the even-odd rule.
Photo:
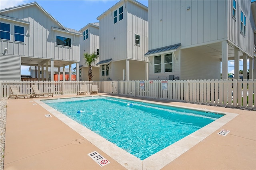
{"label": "shaded ceiling over the open carport under the left house", "polygon": [[[42,59],[42,58],[32,58],[32,57],[21,57],[21,65],[28,65],[28,66],[38,66],[48,62],[50,66],[51,60],[50,59]],[[63,61],[63,60],[54,60],[54,67],[62,67],[63,65],[69,65],[77,63],[74,61]]]}

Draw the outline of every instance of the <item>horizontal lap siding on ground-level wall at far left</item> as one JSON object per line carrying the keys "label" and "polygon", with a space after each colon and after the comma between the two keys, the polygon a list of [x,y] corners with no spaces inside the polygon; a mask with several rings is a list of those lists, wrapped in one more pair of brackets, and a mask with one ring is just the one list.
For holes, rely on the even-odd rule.
{"label": "horizontal lap siding on ground-level wall at far left", "polygon": [[0,56],[0,80],[20,80],[20,57]]}

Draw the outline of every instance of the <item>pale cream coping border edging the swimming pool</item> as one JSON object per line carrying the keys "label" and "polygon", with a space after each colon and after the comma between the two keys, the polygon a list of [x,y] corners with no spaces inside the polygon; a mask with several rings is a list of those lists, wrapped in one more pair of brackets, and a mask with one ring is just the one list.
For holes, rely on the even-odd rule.
{"label": "pale cream coping border edging the swimming pool", "polygon": [[[95,96],[95,95],[94,95]],[[177,106],[172,105],[168,103],[161,103],[156,101],[148,101],[148,100],[142,100],[142,99],[130,99],[127,97],[119,97],[119,96],[109,96],[109,95],[97,95],[97,96],[105,96],[105,97],[113,97],[113,98],[119,98],[119,99],[127,99],[132,101],[140,101],[140,102],[147,102],[147,103],[153,103],[153,104],[159,104],[159,105],[166,105],[166,106],[172,106],[172,107],[180,107],[180,108],[186,108],[186,109],[193,109],[193,110],[199,110],[199,111],[209,111],[209,112],[215,112],[210,109],[200,109],[200,108],[193,108],[193,107],[185,107],[185,106]],[[80,96],[78,96],[80,97]],[[90,97],[90,96],[88,96]],[[60,98],[76,98],[76,97],[60,97]],[[119,164],[124,166],[127,169],[161,169],[176,158],[178,158],[180,155],[182,155],[184,152],[188,151],[190,148],[204,140],[204,138],[208,137],[210,134],[214,133],[216,130],[218,130],[220,127],[234,119],[238,114],[236,113],[228,113],[228,112],[222,112],[217,111],[220,114],[225,114],[223,117],[217,119],[216,121],[206,125],[203,128],[200,128],[199,130],[193,132],[192,134],[182,138],[181,140],[175,142],[174,144],[160,150],[159,152],[153,154],[152,156],[140,160],[139,158],[133,156],[132,154],[126,152],[122,148],[119,148],[112,142],[109,142],[108,140],[104,139],[100,135],[92,132],[88,128],[80,125],[79,123],[76,123],[69,117],[63,115],[62,113],[56,111],[52,107],[48,106],[47,104],[43,103],[41,100],[44,99],[34,99],[36,103],[41,105],[44,109],[46,109],[48,112],[50,112],[52,115],[57,117],[60,121],[68,125],[70,128],[78,132],[81,136],[86,138],[88,141],[90,141],[92,144],[94,144],[96,147],[98,147],[100,150],[108,154],[111,158],[116,160]],[[172,154],[170,154],[172,153]]]}

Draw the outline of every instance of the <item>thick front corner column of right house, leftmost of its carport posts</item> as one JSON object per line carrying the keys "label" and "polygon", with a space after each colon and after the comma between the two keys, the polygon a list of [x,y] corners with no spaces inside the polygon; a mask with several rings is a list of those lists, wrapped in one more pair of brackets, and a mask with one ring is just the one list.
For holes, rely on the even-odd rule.
{"label": "thick front corner column of right house, leftmost of its carport posts", "polygon": [[223,41],[222,45],[222,79],[228,79],[228,42]]}

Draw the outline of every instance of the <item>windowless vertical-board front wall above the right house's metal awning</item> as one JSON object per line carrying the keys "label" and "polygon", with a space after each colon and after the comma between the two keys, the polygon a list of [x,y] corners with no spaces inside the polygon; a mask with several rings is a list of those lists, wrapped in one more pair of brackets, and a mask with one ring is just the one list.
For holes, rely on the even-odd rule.
{"label": "windowless vertical-board front wall above the right house's metal awning", "polygon": [[223,41],[226,7],[225,0],[148,1],[149,49]]}

